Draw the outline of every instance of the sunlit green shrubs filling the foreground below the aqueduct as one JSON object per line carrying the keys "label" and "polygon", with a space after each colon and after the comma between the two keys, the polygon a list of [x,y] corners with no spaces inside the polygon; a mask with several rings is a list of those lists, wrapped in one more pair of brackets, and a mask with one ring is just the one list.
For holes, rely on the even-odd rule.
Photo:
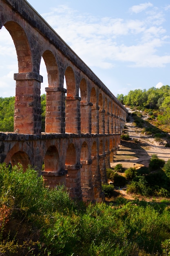
{"label": "sunlit green shrubs filling the foreground below the aqueduct", "polygon": [[146,256],[170,254],[170,203],[118,197],[73,202],[48,189],[32,168],[0,165],[0,255]]}

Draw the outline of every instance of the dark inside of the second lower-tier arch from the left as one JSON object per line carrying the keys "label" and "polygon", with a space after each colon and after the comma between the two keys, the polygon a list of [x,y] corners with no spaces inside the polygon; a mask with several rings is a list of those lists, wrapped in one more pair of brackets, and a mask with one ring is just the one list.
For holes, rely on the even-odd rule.
{"label": "dark inside of the second lower-tier arch from the left", "polygon": [[60,158],[55,146],[49,146],[44,155],[44,171],[57,172],[60,170]]}

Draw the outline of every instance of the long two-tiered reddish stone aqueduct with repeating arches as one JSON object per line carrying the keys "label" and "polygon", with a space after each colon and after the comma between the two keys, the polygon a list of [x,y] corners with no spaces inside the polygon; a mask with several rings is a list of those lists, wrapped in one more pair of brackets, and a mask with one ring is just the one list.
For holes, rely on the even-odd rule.
{"label": "long two-tiered reddish stone aqueduct with repeating arches", "polygon": [[[24,169],[31,164],[47,185],[66,185],[74,199],[102,201],[106,168],[119,148],[128,111],[28,2],[0,0],[2,26],[13,38],[18,73],[14,132],[0,132],[0,162],[20,162]],[[45,132],[41,58],[49,82]]]}

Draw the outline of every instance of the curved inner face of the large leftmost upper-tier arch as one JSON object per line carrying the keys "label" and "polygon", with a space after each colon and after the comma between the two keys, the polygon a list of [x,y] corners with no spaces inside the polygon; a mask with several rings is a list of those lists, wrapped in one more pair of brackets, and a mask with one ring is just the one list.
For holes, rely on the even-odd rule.
{"label": "curved inner face of the large leftmost upper-tier arch", "polygon": [[9,31],[15,45],[18,57],[18,72],[31,72],[31,49],[24,29],[17,22],[14,21],[8,21],[4,24],[4,27]]}

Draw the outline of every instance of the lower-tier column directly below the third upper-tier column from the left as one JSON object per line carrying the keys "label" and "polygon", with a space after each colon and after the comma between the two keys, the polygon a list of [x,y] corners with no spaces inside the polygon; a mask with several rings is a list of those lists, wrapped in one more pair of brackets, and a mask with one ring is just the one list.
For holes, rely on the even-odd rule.
{"label": "lower-tier column directly below the third upper-tier column from the left", "polygon": [[81,164],[65,165],[65,169],[68,171],[66,174],[66,187],[74,200],[82,200],[80,168],[82,168]]}

